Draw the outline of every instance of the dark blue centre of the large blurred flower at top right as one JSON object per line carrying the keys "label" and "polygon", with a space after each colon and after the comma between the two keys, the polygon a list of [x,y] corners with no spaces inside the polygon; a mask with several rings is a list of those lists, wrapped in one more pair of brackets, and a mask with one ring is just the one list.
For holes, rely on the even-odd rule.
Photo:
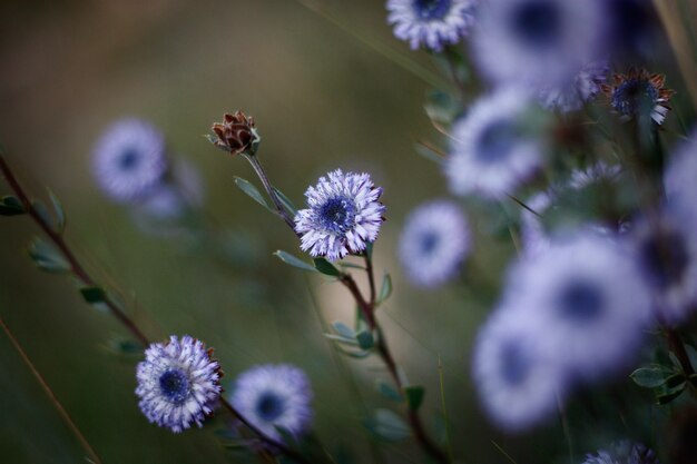
{"label": "dark blue centre of the large blurred flower at top right", "polygon": [[511,12],[510,23],[518,38],[531,47],[549,47],[562,31],[559,6],[549,0],[520,3]]}

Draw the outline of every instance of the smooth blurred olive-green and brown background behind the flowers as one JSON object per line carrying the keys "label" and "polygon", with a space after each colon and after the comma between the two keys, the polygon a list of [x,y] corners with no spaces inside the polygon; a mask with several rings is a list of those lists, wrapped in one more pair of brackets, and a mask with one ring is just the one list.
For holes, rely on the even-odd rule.
{"label": "smooth blurred olive-green and brown background behind the flowers", "polygon": [[[120,292],[151,337],[205,340],[216,348],[228,388],[258,363],[303,367],[315,391],[317,435],[355,462],[371,462],[361,425],[367,412],[400,411],[375,389],[376,378],[389,377],[376,369],[379,359],[345,359],[357,392],[351,387],[321,335],[311,297],[327,320],[350,323],[347,293],[272,256],[297,253],[293,235],[235,187],[233,176],[253,179],[249,167],[202,135],[224,111],[253,115],[269,176],[298,204],[327,170],[370,171],[384,187],[389,216],[375,247],[377,275],[390,269],[395,286],[380,319],[409,378],[428,388],[425,423],[442,436],[440,355],[460,462],[509,462],[492,441],[518,463],[549,462],[566,450],[558,427],[501,435],[487,425],[469,378],[485,305],[462,283],[481,273],[495,283],[502,264],[471,266],[461,285],[436,292],[412,288],[399,268],[405,215],[446,188],[439,168],[413,149],[435,134],[422,109],[428,85],[371,43],[433,69],[429,57],[392,38],[381,1],[320,4],[347,29],[294,0],[2,2],[0,139],[8,159],[36,196],[50,186],[61,198],[69,243],[100,282]],[[230,266],[205,250],[189,253],[180,240],[143,234],[126,208],[100,194],[90,175],[91,146],[109,122],[129,116],[151,120],[171,152],[202,171],[210,227],[230,231],[246,259]],[[105,463],[243,462],[214,433],[226,426],[225,413],[181,435],[148,424],[134,395],[139,357],[107,349],[127,334],[88,307],[69,279],[35,268],[26,246],[38,230],[27,217],[3,218],[0,227],[0,315]],[[539,446],[542,438],[546,446]],[[424,462],[412,443],[379,447],[385,462]],[[4,335],[0,461],[85,462]]]}

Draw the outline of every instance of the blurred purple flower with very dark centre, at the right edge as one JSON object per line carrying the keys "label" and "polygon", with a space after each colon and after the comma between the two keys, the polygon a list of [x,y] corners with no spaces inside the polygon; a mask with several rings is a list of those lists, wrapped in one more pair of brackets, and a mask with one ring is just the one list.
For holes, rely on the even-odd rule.
{"label": "blurred purple flower with very dark centre, at the right edge", "polygon": [[677,324],[697,304],[697,236],[695,219],[667,208],[660,217],[636,221],[634,251],[656,296],[658,318]]}

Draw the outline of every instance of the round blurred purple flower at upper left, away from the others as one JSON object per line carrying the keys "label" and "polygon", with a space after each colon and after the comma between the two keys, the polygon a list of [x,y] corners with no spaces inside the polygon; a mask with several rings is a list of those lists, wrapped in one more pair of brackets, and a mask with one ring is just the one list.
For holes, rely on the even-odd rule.
{"label": "round blurred purple flower at upper left, away from the others", "polygon": [[135,201],[150,192],[167,171],[163,134],[139,119],[109,126],[94,148],[94,172],[115,201]]}

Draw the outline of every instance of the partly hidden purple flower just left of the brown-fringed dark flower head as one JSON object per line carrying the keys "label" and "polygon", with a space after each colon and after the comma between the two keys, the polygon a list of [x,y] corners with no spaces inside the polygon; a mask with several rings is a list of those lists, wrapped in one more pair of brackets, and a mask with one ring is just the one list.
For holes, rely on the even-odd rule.
{"label": "partly hidden purple flower just left of the brown-fringed dark flower head", "polygon": [[546,108],[561,112],[577,111],[591,101],[601,90],[609,72],[605,60],[586,65],[569,83],[539,90],[538,97]]}

